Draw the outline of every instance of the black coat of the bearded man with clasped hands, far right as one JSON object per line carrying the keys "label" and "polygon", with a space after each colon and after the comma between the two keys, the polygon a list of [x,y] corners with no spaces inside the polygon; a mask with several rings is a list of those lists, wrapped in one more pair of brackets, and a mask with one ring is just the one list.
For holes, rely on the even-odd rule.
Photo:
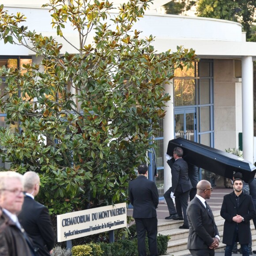
{"label": "black coat of the bearded man with clasped hands, far right", "polygon": [[[239,205],[234,192],[224,196],[220,215],[225,219],[223,230],[223,244],[232,245],[235,227],[238,227],[240,244],[248,244],[250,240],[250,220],[256,216],[252,196],[241,193]],[[241,215],[245,221],[237,223],[232,220],[236,215]]]}

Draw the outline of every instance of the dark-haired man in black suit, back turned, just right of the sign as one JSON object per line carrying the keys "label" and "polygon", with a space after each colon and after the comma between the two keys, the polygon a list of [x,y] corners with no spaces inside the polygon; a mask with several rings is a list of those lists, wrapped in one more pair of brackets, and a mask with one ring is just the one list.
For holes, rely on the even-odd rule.
{"label": "dark-haired man in black suit, back turned, just right of the sign", "polygon": [[146,256],[145,236],[147,230],[150,256],[157,256],[157,214],[158,190],[154,181],[147,179],[147,165],[138,168],[139,176],[129,183],[129,199],[133,205],[139,256]]}

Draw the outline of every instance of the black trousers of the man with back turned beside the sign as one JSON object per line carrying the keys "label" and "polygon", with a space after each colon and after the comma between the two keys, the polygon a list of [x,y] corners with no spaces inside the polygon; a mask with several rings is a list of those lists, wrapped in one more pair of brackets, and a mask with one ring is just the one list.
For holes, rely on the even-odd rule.
{"label": "black trousers of the man with back turned beside the sign", "polygon": [[135,218],[136,232],[138,239],[139,256],[147,256],[145,247],[145,237],[147,230],[148,247],[150,256],[157,256],[157,217],[154,218]]}

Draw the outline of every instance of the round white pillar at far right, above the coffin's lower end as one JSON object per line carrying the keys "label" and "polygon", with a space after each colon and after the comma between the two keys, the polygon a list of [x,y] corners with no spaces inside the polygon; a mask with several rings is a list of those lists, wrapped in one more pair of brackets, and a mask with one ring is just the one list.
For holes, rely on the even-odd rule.
{"label": "round white pillar at far right, above the coffin's lower end", "polygon": [[242,57],[243,158],[253,163],[253,66],[252,56]]}

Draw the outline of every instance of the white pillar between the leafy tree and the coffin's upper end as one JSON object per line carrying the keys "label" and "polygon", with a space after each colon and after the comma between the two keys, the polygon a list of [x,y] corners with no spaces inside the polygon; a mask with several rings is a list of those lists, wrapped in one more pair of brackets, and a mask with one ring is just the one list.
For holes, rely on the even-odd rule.
{"label": "white pillar between the leafy tree and the coffin's upper end", "polygon": [[[168,142],[174,139],[174,108],[173,108],[173,83],[165,85],[165,91],[171,96],[169,102],[166,103],[166,116],[163,120],[163,135],[164,135],[164,154],[167,152]],[[172,185],[171,169],[167,164],[164,156],[164,192]]]}

